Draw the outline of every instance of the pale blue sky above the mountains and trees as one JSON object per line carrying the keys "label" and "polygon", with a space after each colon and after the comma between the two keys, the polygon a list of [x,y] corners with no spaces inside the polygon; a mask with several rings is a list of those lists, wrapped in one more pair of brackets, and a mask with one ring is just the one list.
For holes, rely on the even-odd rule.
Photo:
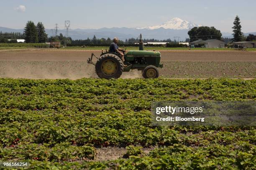
{"label": "pale blue sky above the mountains and trees", "polygon": [[[243,32],[256,32],[256,0],[1,0],[0,27],[24,28],[28,20],[46,28],[64,20],[71,29],[145,27],[178,17],[232,32],[236,15]],[[3,17],[5,16],[5,17]]]}

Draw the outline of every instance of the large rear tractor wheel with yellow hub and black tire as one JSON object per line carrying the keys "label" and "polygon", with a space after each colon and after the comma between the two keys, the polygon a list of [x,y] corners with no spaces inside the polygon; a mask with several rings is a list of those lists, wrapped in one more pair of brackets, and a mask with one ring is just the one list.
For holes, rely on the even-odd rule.
{"label": "large rear tractor wheel with yellow hub and black tire", "polygon": [[115,54],[105,54],[97,60],[95,71],[100,78],[119,78],[123,73],[123,62]]}

